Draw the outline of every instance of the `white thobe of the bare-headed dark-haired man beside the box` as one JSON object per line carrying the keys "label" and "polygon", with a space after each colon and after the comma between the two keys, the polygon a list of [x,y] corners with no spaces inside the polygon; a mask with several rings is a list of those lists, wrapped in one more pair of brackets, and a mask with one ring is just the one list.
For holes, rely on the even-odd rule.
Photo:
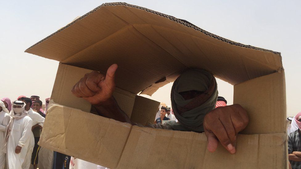
{"label": "white thobe of the bare-headed dark-haired man beside the box", "polygon": [[[36,124],[39,124],[42,127],[44,126],[45,118],[43,116],[41,116],[39,113],[37,113],[37,112],[33,111],[32,109],[30,109],[29,111],[27,111],[27,114],[29,115],[29,117],[32,120],[32,126],[34,126]],[[31,164],[32,151],[33,151],[33,147],[35,146],[35,137],[34,137],[34,135],[32,135],[31,139],[33,139],[33,144],[29,145],[29,148],[27,149],[26,158],[23,162],[22,168],[29,168],[30,164]]]}

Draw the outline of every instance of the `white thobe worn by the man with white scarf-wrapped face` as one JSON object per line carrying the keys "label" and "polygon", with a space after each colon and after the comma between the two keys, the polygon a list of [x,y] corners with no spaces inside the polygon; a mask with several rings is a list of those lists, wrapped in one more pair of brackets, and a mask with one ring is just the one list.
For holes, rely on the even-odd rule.
{"label": "white thobe worn by the man with white scarf-wrapped face", "polygon": [[[26,115],[22,119],[14,119],[12,130],[7,141],[7,156],[9,169],[27,169],[22,167],[28,149],[35,144],[31,131],[32,120]],[[22,147],[19,154],[15,153],[17,146]],[[32,148],[31,148],[32,152]],[[29,168],[29,167],[28,167]]]}

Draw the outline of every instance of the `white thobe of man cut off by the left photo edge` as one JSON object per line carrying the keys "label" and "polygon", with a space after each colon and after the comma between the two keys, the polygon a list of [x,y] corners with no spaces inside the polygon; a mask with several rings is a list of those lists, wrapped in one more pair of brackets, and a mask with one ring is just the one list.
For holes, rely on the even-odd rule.
{"label": "white thobe of man cut off by the left photo edge", "polygon": [[6,126],[10,121],[10,115],[5,111],[0,112],[0,169],[3,169],[6,165],[6,151],[3,149],[4,147],[4,137]]}

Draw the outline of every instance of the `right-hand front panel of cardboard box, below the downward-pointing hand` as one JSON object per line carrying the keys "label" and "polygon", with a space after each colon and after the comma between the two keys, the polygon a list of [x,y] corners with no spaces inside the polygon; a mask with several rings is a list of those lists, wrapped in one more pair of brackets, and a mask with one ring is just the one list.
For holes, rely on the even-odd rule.
{"label": "right-hand front panel of cardboard box, below the downward-pointing hand", "polygon": [[[129,143],[126,143],[126,148],[122,153],[122,158],[118,163],[118,168],[163,167],[282,169],[286,165],[286,158],[285,156],[277,156],[277,154],[282,154],[287,151],[285,146],[283,146],[286,144],[286,137],[285,133],[255,135],[239,134],[237,136],[236,144],[237,152],[232,155],[225,150],[221,144],[219,144],[214,153],[209,152],[207,150],[207,137],[204,133],[169,131],[164,129],[133,126],[128,139]],[[185,140],[187,140],[187,142],[185,142]],[[177,147],[179,146],[179,143],[183,143],[183,147]],[[244,145],[248,146],[245,147]],[[277,148],[275,149],[275,147]],[[257,153],[252,154],[251,151],[254,148],[254,152]],[[164,150],[165,153],[162,153]],[[186,153],[188,152],[188,155],[194,154],[195,156],[190,158],[188,156],[181,156],[186,154],[181,153],[183,151],[186,151]],[[262,157],[265,152],[268,154],[269,159]],[[164,159],[166,156],[170,159],[165,161],[165,163],[159,163],[159,161]],[[253,159],[245,161],[248,160],[245,159],[246,157],[252,157]],[[177,160],[179,158],[182,160]],[[274,161],[275,159],[276,161]],[[219,160],[219,162],[216,160]]]}

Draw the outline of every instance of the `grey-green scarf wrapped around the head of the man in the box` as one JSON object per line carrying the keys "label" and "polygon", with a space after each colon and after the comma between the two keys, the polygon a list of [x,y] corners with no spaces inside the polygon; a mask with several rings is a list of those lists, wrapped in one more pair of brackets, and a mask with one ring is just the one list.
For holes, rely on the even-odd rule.
{"label": "grey-green scarf wrapped around the head of the man in the box", "polygon": [[[180,92],[201,91],[195,98],[185,100]],[[181,74],[171,88],[171,106],[179,124],[170,126],[174,130],[204,132],[205,115],[215,108],[218,96],[214,76],[205,70],[188,70]]]}

